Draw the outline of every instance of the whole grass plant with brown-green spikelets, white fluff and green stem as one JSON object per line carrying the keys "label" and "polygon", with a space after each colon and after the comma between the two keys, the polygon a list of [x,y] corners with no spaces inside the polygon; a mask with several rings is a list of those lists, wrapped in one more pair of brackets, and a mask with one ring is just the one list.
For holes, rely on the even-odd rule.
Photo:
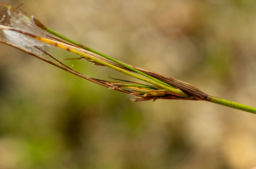
{"label": "whole grass plant with brown-green spikelets, white fluff and green stem", "polygon": [[[90,82],[95,82],[104,87],[137,96],[136,99],[131,99],[133,102],[156,99],[201,100],[256,114],[256,108],[254,107],[238,104],[226,99],[218,99],[202,92],[200,89],[187,82],[182,82],[172,77],[163,76],[153,71],[144,70],[113,59],[106,54],[97,52],[95,49],[86,47],[79,42],[74,42],[49,29],[33,16],[24,13],[20,8],[12,8],[3,3],[0,4],[8,8],[10,17],[9,25],[0,25],[0,31],[3,31],[5,35],[5,37],[0,38],[0,42],[18,48],[27,54],[31,54],[38,59],[44,60],[51,65],[55,65],[62,70],[66,70]],[[73,54],[78,54],[79,59],[87,59],[95,65],[108,66],[113,70],[118,70],[146,83],[129,82],[119,79],[114,79],[119,80],[119,82],[110,82],[84,76],[65,65],[60,59],[56,59],[54,56],[46,53],[43,47],[46,44],[64,49]],[[43,56],[44,54],[48,55],[53,61],[46,59]]]}

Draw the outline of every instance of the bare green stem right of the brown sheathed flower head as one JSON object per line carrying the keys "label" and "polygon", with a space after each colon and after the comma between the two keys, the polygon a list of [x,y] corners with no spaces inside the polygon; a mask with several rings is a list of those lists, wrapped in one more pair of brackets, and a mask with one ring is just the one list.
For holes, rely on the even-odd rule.
{"label": "bare green stem right of the brown sheathed flower head", "polygon": [[234,108],[237,110],[243,110],[243,111],[247,111],[249,113],[253,113],[256,114],[256,108],[245,105],[245,104],[238,104],[236,102],[232,102],[230,100],[226,100],[226,99],[219,99],[213,96],[208,97],[207,101],[215,103],[215,104],[221,104],[230,108]]}

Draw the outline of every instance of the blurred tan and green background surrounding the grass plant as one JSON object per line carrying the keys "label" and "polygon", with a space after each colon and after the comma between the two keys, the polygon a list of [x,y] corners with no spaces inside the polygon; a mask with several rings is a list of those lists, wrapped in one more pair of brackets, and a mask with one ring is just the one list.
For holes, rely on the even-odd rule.
{"label": "blurred tan and green background surrounding the grass plant", "polygon": [[[23,2],[44,25],[114,59],[256,106],[253,0]],[[15,48],[1,43],[0,51],[0,169],[256,166],[256,115],[201,101],[131,103]],[[133,80],[85,60],[66,63],[86,76]]]}

